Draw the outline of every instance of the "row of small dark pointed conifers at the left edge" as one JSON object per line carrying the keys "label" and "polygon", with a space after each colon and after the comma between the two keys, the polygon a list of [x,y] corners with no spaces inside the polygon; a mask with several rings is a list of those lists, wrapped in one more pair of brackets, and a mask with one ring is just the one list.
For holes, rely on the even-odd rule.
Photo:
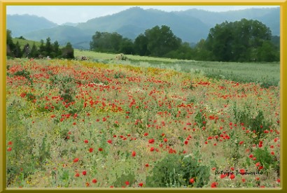
{"label": "row of small dark pointed conifers at the left edge", "polygon": [[[22,36],[20,37],[25,40]],[[29,43],[25,44],[21,49],[19,41],[13,43],[12,31],[7,29],[7,51],[6,55],[8,57],[29,57],[29,58],[41,58],[41,57],[50,57],[50,58],[66,58],[73,59],[73,46],[71,43],[66,43],[64,48],[60,48],[58,41],[51,43],[50,38],[48,37],[44,42],[41,40],[41,45],[37,47],[35,43],[32,46]]]}

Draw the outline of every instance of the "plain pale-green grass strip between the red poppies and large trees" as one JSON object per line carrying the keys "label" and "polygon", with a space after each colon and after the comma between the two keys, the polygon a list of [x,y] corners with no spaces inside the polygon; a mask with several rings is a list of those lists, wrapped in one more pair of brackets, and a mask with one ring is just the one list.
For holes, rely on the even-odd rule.
{"label": "plain pale-green grass strip between the red poppies and large trees", "polygon": [[90,61],[134,66],[153,66],[161,69],[174,69],[183,72],[204,73],[210,78],[223,78],[239,83],[260,83],[262,87],[278,86],[280,63],[236,63],[200,62],[193,60],[167,59],[126,55],[127,61],[117,61],[115,54],[75,50],[75,57],[86,56]]}

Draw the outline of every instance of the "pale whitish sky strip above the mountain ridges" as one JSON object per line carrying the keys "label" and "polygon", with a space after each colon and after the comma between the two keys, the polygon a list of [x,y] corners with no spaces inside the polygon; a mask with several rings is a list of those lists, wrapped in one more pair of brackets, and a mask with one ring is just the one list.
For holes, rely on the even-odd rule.
{"label": "pale whitish sky strip above the mountain ridges", "polygon": [[[63,24],[65,22],[86,22],[94,17],[101,17],[118,13],[134,6],[7,6],[8,15],[38,15],[51,22]],[[274,8],[278,6],[139,6],[144,9],[155,8],[158,10],[174,11],[197,8],[209,11],[240,10],[245,8]]]}

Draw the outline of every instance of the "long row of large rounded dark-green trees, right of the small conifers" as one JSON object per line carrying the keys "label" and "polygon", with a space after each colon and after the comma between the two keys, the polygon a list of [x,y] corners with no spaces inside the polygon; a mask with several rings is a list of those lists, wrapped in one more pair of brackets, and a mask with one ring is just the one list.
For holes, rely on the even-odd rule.
{"label": "long row of large rounded dark-green trees, right of the small conifers", "polygon": [[272,36],[271,30],[262,22],[242,19],[216,24],[207,38],[194,47],[162,25],[146,29],[134,41],[116,32],[96,31],[90,41],[90,50],[202,61],[274,62],[279,61],[278,38]]}

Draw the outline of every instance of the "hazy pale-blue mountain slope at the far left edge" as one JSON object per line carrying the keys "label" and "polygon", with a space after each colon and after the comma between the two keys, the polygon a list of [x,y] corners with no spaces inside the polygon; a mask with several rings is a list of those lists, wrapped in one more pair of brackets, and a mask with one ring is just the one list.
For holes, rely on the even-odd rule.
{"label": "hazy pale-blue mountain slope at the far left edge", "polygon": [[22,36],[39,29],[57,27],[57,24],[50,22],[45,17],[36,15],[7,15],[6,21],[6,28],[12,31],[13,37]]}

